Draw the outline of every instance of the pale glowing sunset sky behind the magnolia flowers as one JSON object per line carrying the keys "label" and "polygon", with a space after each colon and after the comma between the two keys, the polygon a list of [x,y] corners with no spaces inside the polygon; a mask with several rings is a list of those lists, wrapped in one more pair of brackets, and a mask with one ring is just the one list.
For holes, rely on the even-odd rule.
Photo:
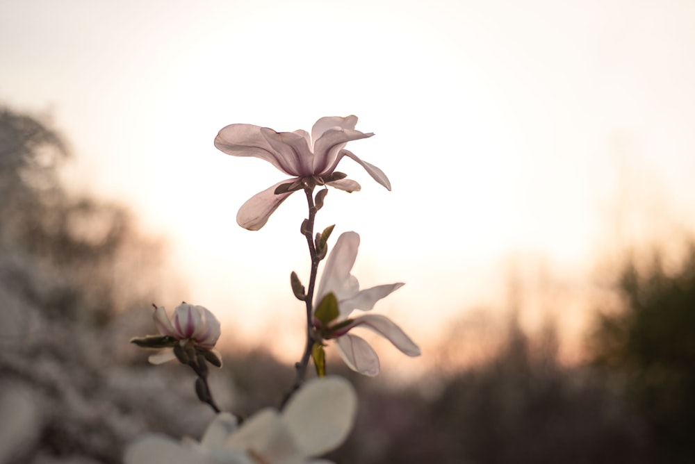
{"label": "pale glowing sunset sky behind the magnolia flowers", "polygon": [[363,287],[407,284],[376,311],[432,340],[499,307],[516,269],[555,295],[529,311],[571,326],[616,243],[695,223],[694,24],[689,0],[5,0],[0,102],[51,115],[70,187],[170,240],[188,290],[160,304],[202,304],[230,338],[301,324],[306,205],[238,227],[286,176],[216,133],[350,114],[376,135],[347,148],[393,191],[344,160],[363,189],[331,190],[317,221],[361,234]]}

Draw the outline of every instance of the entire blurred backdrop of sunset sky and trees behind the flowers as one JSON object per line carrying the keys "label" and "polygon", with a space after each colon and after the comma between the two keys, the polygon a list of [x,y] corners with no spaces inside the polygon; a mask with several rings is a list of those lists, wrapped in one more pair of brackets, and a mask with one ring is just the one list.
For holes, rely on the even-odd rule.
{"label": "entire blurred backdrop of sunset sky and trees behind the flowers", "polygon": [[[199,437],[193,375],[129,345],[152,303],[222,320],[223,408],[277,406],[302,351],[295,195],[223,126],[355,114],[317,229],[423,350],[370,338],[341,463],[695,461],[695,4],[0,3],[0,462],[117,463]],[[329,355],[334,353],[329,349]]]}

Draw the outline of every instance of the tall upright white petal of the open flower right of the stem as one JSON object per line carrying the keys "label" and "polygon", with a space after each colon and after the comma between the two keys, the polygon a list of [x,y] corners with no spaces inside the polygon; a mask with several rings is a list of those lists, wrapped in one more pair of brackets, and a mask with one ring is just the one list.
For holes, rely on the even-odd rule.
{"label": "tall upright white petal of the open flower right of the stem", "polygon": [[316,301],[334,292],[338,301],[353,297],[359,290],[357,279],[350,274],[359,249],[359,234],[343,232],[328,255],[323,267],[321,282],[318,285]]}

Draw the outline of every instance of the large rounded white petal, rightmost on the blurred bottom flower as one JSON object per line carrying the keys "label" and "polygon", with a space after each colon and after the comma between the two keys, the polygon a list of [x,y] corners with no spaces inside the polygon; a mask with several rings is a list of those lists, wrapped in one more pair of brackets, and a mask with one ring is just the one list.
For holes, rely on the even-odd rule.
{"label": "large rounded white petal, rightmost on the blurred bottom flower", "polygon": [[357,393],[352,385],[330,376],[305,383],[288,401],[282,420],[303,457],[320,456],[345,441],[355,413]]}

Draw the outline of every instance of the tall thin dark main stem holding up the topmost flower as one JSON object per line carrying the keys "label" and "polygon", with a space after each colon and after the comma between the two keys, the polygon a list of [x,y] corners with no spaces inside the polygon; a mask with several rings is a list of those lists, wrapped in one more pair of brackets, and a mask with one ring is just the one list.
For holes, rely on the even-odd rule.
{"label": "tall thin dark main stem holding up the topmost flower", "polygon": [[306,194],[306,202],[309,204],[309,219],[306,219],[302,224],[302,234],[306,237],[306,244],[309,246],[309,255],[311,256],[311,273],[309,274],[309,287],[306,289],[306,295],[304,296],[304,303],[306,304],[306,344],[304,345],[304,353],[302,354],[302,359],[300,362],[296,363],[297,376],[295,377],[295,383],[293,384],[290,392],[285,395],[282,405],[284,406],[288,399],[297,391],[302,382],[304,382],[304,377],[306,377],[306,370],[309,367],[309,360],[311,359],[311,348],[313,347],[313,290],[316,286],[316,275],[318,274],[318,263],[320,258],[316,253],[316,245],[313,242],[313,225],[314,219],[316,219],[316,205],[313,202],[313,189],[315,185],[313,183],[305,183],[304,193]]}

